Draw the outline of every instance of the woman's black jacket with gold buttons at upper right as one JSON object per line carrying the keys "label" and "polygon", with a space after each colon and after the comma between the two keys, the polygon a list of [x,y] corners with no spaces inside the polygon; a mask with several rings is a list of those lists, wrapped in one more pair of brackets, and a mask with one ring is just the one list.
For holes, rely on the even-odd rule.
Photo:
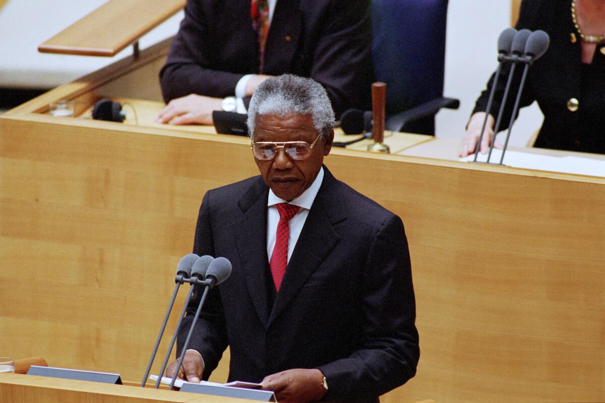
{"label": "woman's black jacket with gold buttons at upper right", "polygon": [[[551,37],[551,44],[529,68],[520,105],[537,100],[544,114],[536,147],[605,153],[605,54],[601,53],[605,44],[597,45],[592,65],[582,65],[580,36],[571,19],[570,4],[569,0],[524,0],[521,4],[516,28],[544,30]],[[571,42],[571,33],[575,33],[577,42]],[[516,84],[511,87],[514,91],[507,101],[501,129],[508,128],[522,70],[517,68]],[[508,73],[509,68],[503,68],[498,79],[491,109],[494,117],[500,108]],[[486,110],[493,79],[477,100],[473,113]],[[567,109],[571,98],[580,101],[577,111]]]}

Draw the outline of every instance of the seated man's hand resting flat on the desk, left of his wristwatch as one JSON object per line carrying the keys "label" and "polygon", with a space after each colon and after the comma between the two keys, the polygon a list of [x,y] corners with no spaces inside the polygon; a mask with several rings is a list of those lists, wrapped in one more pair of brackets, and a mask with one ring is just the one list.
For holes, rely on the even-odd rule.
{"label": "seated man's hand resting flat on the desk, left of his wristwatch", "polygon": [[221,111],[222,102],[220,98],[189,94],[168,102],[155,122],[171,125],[212,125],[212,111]]}

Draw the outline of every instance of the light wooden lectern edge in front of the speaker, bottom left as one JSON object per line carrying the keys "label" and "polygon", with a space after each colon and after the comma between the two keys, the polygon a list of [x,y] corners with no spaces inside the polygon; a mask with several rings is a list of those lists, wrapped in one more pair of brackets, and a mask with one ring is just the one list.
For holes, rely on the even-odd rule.
{"label": "light wooden lectern edge in front of the speaker, bottom left", "polygon": [[0,373],[0,402],[10,403],[245,403],[247,399],[197,395],[128,385]]}

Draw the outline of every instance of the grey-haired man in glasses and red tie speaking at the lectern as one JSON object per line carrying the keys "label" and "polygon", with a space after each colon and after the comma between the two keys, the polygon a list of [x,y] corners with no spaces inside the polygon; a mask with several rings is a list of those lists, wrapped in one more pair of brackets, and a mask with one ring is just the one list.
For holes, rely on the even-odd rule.
{"label": "grey-haired man in glasses and red tie speaking at the lectern", "polygon": [[261,175],[201,203],[194,252],[233,270],[210,291],[180,376],[208,379],[227,346],[229,381],[261,382],[280,402],[378,401],[416,373],[404,226],[323,165],[333,125],[312,79],[286,74],[255,91],[248,126]]}

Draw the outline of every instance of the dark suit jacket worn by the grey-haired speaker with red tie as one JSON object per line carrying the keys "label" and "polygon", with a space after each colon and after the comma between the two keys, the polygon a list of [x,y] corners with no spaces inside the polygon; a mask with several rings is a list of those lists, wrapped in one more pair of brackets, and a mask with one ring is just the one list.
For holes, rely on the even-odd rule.
{"label": "dark suit jacket worn by the grey-haired speaker with red tie", "polygon": [[[324,171],[272,308],[263,179],[204,196],[194,252],[233,264],[231,277],[209,293],[192,336],[204,379],[227,345],[230,381],[319,368],[326,399],[369,401],[416,373],[416,307],[401,219]],[[179,351],[200,294],[189,306]]]}

